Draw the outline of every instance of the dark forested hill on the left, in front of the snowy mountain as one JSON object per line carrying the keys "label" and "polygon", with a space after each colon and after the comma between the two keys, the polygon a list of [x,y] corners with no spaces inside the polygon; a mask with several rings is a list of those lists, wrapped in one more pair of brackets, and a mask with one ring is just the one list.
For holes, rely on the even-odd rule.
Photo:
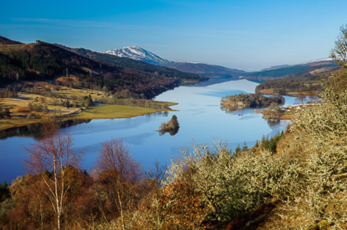
{"label": "dark forested hill on the left, in front of the snowy mountain", "polygon": [[78,79],[77,87],[152,98],[184,80],[204,79],[176,70],[156,72],[110,65],[42,41],[33,44],[6,38],[2,41],[6,44],[0,45],[0,85],[18,80],[53,80],[65,76],[68,70],[69,75]]}

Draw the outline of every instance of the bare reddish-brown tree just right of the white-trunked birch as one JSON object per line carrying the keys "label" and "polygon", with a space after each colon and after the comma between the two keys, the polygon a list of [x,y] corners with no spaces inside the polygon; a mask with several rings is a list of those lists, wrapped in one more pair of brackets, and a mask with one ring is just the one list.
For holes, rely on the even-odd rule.
{"label": "bare reddish-brown tree just right of the white-trunked birch", "polygon": [[137,182],[140,179],[140,163],[129,154],[121,139],[111,139],[102,143],[96,166],[107,177],[111,185],[110,195],[121,217],[122,229],[126,229],[125,212],[135,206]]}

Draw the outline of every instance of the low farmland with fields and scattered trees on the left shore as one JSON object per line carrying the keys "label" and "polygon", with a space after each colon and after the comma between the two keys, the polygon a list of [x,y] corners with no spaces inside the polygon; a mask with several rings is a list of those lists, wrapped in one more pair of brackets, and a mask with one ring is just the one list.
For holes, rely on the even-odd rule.
{"label": "low farmland with fields and scattered trees on the left shore", "polygon": [[[106,101],[109,96],[97,90],[65,86],[60,86],[57,90],[55,85],[47,82],[33,84],[38,91],[42,90],[42,86],[51,94],[20,92],[15,98],[0,98],[1,108],[9,111],[9,116],[0,120],[0,130],[45,123],[52,119],[131,118],[146,113],[170,111],[169,106],[176,104],[146,99],[119,99],[110,104],[109,100]],[[107,103],[102,103],[103,101]]]}

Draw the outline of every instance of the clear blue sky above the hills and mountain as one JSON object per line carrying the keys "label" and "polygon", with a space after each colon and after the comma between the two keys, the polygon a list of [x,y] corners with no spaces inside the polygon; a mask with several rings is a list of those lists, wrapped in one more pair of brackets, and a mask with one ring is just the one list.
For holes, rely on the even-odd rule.
{"label": "clear blue sky above the hills and mountain", "polygon": [[0,35],[105,51],[138,45],[168,60],[246,71],[327,57],[346,0],[5,1]]}

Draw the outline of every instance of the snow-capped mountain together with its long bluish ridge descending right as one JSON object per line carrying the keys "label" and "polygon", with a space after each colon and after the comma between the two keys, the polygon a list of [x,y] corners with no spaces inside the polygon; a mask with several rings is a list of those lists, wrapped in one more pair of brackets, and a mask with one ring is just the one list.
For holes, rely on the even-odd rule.
{"label": "snow-capped mountain together with its long bluish ridge descending right", "polygon": [[168,61],[162,57],[143,49],[139,46],[128,46],[118,49],[110,49],[102,53],[107,53],[119,57],[128,57],[134,60],[144,61],[149,64],[165,66],[182,72],[199,74],[208,77],[227,77],[238,78],[245,75],[242,70],[229,69],[222,66],[209,65],[205,63],[185,62],[185,61]]}

